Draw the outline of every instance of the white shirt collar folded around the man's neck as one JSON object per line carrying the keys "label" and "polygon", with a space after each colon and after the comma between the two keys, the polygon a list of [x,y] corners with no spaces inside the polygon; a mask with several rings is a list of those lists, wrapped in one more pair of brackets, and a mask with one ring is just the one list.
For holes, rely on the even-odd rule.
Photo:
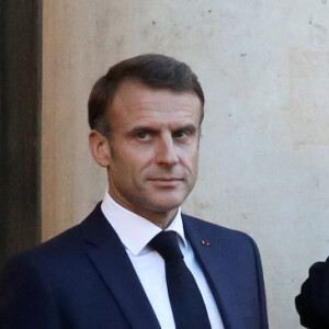
{"label": "white shirt collar folded around the man's neck", "polygon": [[[134,256],[150,251],[147,243],[161,231],[161,228],[147,218],[144,218],[116,203],[109,192],[105,193],[102,212],[112,225],[121,241]],[[181,238],[183,247],[186,247],[181,207],[166,230],[175,231]]]}

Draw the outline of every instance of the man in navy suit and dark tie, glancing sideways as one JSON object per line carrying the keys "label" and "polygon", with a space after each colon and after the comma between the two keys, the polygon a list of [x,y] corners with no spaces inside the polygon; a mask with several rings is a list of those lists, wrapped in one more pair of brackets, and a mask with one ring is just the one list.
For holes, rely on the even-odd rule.
{"label": "man in navy suit and dark tie, glancing sideways", "polygon": [[196,76],[167,56],[100,78],[90,150],[109,191],[80,225],[7,264],[1,328],[268,328],[253,240],[181,213],[203,107]]}

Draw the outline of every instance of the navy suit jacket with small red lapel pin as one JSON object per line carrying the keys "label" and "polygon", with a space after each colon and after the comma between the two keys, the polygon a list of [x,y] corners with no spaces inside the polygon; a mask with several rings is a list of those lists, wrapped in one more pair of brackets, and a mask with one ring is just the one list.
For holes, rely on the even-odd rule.
{"label": "navy suit jacket with small red lapel pin", "polygon": [[[253,240],[186,215],[182,218],[225,328],[266,329],[263,275]],[[99,204],[80,225],[8,262],[0,279],[0,328],[160,326]]]}

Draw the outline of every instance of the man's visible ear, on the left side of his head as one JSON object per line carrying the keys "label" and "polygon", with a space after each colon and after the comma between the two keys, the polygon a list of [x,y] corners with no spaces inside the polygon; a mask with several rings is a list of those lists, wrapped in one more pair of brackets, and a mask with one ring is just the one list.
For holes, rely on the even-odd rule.
{"label": "man's visible ear, on the left side of his head", "polygon": [[89,134],[89,148],[92,157],[99,166],[110,166],[111,148],[106,137],[97,131],[91,131]]}

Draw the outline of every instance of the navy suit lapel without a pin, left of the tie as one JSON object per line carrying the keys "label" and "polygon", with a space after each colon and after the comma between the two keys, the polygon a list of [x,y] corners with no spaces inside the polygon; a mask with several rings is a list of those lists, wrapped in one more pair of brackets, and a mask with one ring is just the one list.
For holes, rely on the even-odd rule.
{"label": "navy suit lapel without a pin, left of the tie", "polygon": [[100,205],[81,224],[87,253],[133,328],[160,328],[134,266]]}

